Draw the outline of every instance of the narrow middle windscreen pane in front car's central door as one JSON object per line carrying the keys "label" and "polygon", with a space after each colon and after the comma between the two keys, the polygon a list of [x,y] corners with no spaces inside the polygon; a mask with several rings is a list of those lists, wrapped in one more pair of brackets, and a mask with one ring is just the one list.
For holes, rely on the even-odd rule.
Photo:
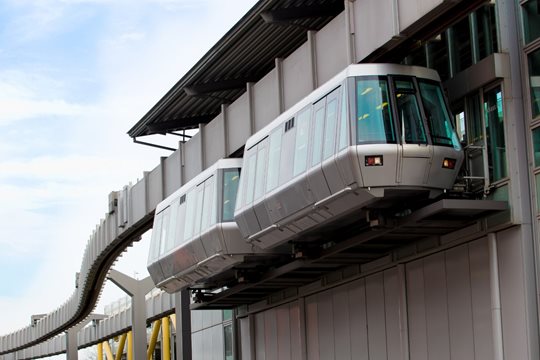
{"label": "narrow middle windscreen pane in front car's central door", "polygon": [[427,143],[424,122],[420,116],[414,84],[410,80],[396,81],[396,102],[401,139],[407,144]]}

